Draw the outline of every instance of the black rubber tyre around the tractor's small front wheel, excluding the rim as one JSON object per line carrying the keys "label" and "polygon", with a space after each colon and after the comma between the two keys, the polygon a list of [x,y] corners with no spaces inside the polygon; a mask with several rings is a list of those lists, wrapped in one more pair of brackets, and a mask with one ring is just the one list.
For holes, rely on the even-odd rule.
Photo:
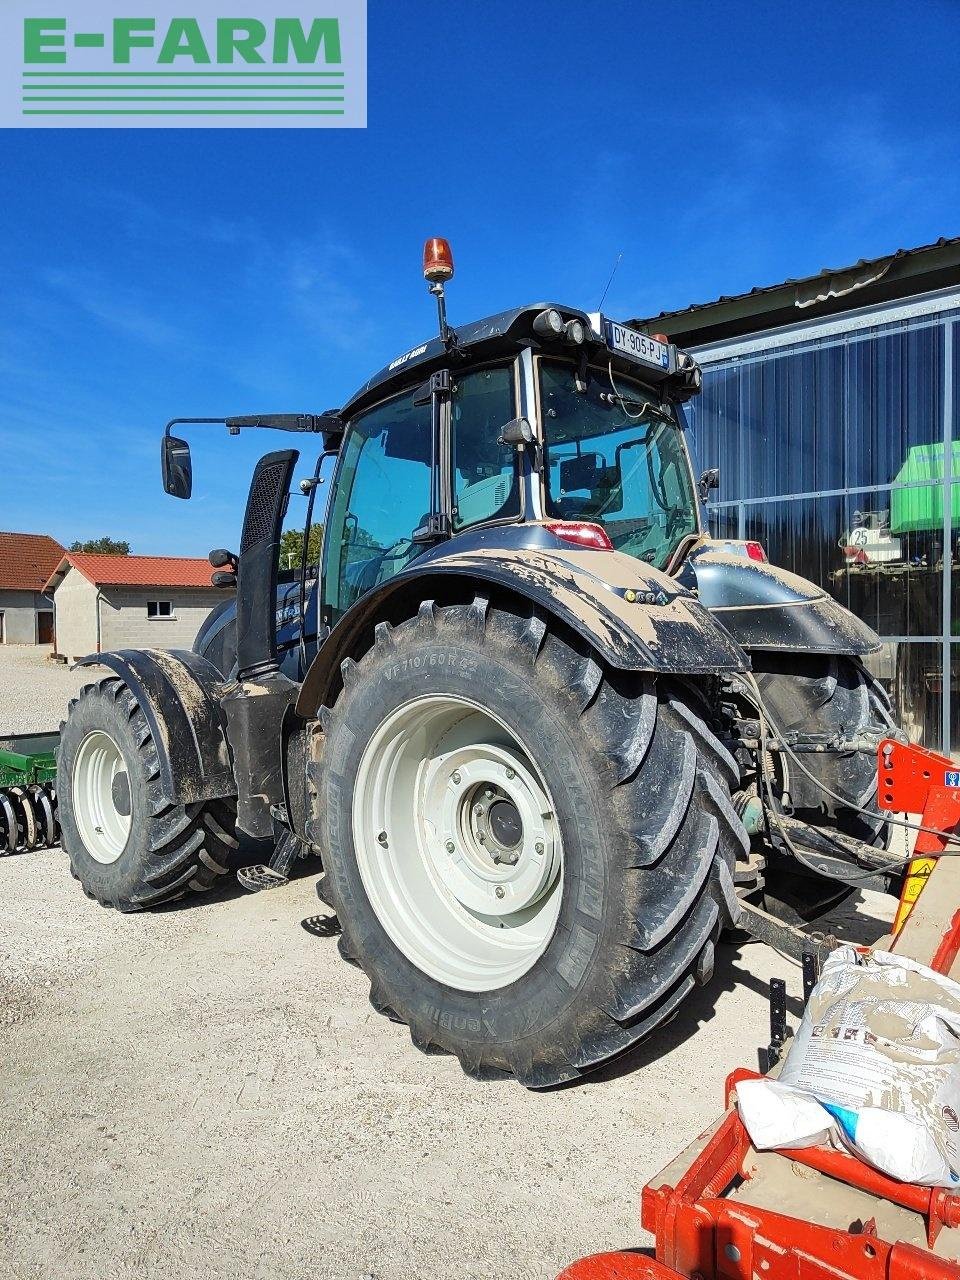
{"label": "black rubber tyre around the tractor's small front wheel, excluding the rim", "polygon": [[[90,735],[109,735],[119,749],[129,787],[129,835],[114,861],[91,856],[73,803],[77,754]],[[160,788],[160,762],[140,703],[116,676],[87,685],[60,726],[56,787],[63,847],[88,897],[137,911],[204,892],[230,868],[237,849],[236,804],[212,800],[172,805]],[[124,803],[125,808],[125,803]]]}

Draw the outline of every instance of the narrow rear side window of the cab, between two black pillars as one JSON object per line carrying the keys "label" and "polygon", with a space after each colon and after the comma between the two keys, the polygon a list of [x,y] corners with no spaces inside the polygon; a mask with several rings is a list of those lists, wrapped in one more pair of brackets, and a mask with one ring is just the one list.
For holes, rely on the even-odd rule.
{"label": "narrow rear side window of the cab, between two black pillars", "polygon": [[454,531],[520,516],[517,451],[499,443],[516,416],[513,365],[457,378],[451,397]]}

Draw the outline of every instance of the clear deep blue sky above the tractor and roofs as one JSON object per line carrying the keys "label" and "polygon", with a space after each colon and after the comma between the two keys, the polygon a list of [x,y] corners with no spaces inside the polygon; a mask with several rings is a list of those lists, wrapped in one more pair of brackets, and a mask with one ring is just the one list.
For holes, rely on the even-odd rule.
{"label": "clear deep blue sky above the tractor and roofs", "polygon": [[[369,128],[0,132],[0,527],[236,545],[275,447],[451,319],[646,315],[960,233],[960,3],[370,0]],[[206,434],[201,434],[201,433]]]}

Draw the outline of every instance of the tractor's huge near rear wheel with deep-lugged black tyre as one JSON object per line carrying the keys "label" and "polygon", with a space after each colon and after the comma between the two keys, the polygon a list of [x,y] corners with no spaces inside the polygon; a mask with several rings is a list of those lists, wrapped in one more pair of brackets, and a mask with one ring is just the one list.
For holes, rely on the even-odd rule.
{"label": "tractor's huge near rear wheel with deep-lugged black tyre", "polygon": [[[407,1023],[419,1048],[445,1050],[470,1074],[511,1074],[532,1088],[575,1079],[628,1050],[671,1018],[698,982],[709,980],[714,942],[737,914],[732,865],[748,847],[730,801],[739,771],[709,727],[700,691],[673,678],[608,669],[552,626],[536,613],[493,608],[483,598],[444,608],[428,602],[396,630],[381,623],[361,662],[344,663],[334,708],[321,712],[324,750],[315,774],[325,892],[343,929],[340,951],[370,978],[374,1007]],[[379,810],[388,815],[385,826],[372,829],[380,819],[370,819],[378,810],[366,797],[380,795],[376,778],[392,774],[390,768],[378,774],[371,762],[394,741],[390,724],[404,723],[404,708],[426,716],[431,703],[443,714],[449,710],[436,722],[439,739],[420,712],[416,723],[406,722],[410,750],[421,751],[419,772],[404,763],[402,737],[396,739],[394,773],[407,769],[408,792],[419,780],[435,778],[444,762],[461,768],[462,777],[449,773],[443,786],[472,785],[474,774],[458,762],[474,758],[457,751],[468,753],[462,744],[484,736],[477,726],[494,726],[488,736],[498,750],[515,753],[517,777],[548,797],[540,842],[548,855],[554,841],[561,852],[554,879],[529,906],[547,918],[554,895],[553,920],[522,961],[515,969],[504,961],[494,972],[490,960],[485,972],[477,968],[456,982],[454,961],[463,960],[474,933],[489,937],[495,956],[498,945],[508,945],[497,931],[520,938],[526,916],[463,906],[458,882],[451,888],[444,879],[443,850],[461,836],[444,842],[440,801],[426,805],[428,822],[416,840],[408,831],[413,820],[389,819],[394,812],[402,817],[403,804],[411,814],[422,809],[412,795],[401,795],[397,810],[390,804]],[[484,749],[476,750],[484,758]],[[371,776],[372,791],[364,781]],[[425,794],[434,792],[428,786]],[[477,808],[474,799],[447,795],[449,804],[463,805],[465,824]],[[508,892],[524,860],[539,856],[529,851],[532,841],[522,829],[518,865],[494,869]],[[378,859],[380,874],[371,872]],[[420,878],[404,881],[401,863]],[[410,886],[430,877],[448,901],[444,906],[440,892],[429,899],[435,927],[424,928],[420,946],[415,933],[404,932],[403,911],[421,910]],[[399,886],[401,910],[384,905],[384,884]],[[472,931],[451,933],[445,960],[444,911]],[[488,952],[476,955],[483,961]],[[444,973],[448,980],[438,977]]]}

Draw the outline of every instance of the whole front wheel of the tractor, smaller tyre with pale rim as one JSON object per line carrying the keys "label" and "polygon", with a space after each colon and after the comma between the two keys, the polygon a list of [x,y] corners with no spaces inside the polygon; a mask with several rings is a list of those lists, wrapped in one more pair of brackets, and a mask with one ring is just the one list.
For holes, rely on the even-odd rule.
{"label": "whole front wheel of the tractor, smaller tyre with pale rim", "polygon": [[143,710],[118,677],[87,685],[60,726],[63,847],[101,906],[138,911],[211,888],[237,849],[232,800],[172,805]]}

